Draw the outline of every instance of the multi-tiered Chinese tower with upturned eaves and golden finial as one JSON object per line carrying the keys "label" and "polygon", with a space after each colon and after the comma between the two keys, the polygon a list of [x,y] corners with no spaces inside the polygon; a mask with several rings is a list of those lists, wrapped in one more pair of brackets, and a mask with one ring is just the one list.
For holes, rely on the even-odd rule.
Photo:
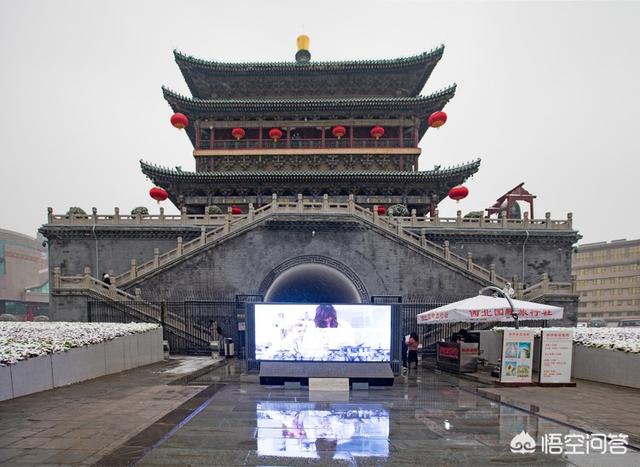
{"label": "multi-tiered Chinese tower with upturned eaves and golden finial", "polygon": [[221,63],[175,52],[192,97],[163,88],[189,120],[196,171],[142,171],[189,214],[218,206],[246,211],[298,194],[306,199],[405,205],[434,214],[450,188],[480,165],[419,171],[428,119],[455,85],[420,95],[444,46],[393,60],[313,62],[298,38],[295,62]]}

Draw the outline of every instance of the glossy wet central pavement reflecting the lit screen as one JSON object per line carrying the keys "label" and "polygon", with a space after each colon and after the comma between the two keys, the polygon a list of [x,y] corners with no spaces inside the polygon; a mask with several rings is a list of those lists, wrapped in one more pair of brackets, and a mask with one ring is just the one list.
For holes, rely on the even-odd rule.
{"label": "glossy wet central pavement reflecting the lit screen", "polygon": [[[310,394],[240,381],[236,363],[193,384],[221,385],[143,465],[640,465],[635,451],[543,454],[545,434],[584,435],[474,393],[475,386],[420,370],[392,388]],[[321,396],[321,397],[320,397]],[[513,453],[527,433],[532,453]]]}

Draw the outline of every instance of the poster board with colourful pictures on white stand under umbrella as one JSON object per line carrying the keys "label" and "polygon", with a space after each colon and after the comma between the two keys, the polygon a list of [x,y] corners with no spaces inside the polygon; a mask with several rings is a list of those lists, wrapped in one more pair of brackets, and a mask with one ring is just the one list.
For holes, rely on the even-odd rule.
{"label": "poster board with colourful pictures on white stand under umbrella", "polygon": [[530,383],[533,371],[533,331],[505,329],[502,335],[501,383]]}

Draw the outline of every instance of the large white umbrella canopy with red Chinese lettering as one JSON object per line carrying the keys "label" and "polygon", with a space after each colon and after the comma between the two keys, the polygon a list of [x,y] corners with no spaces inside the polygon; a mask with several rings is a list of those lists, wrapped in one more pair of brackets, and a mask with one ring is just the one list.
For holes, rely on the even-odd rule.
{"label": "large white umbrella canopy with red Chinese lettering", "polygon": [[[519,320],[562,319],[562,308],[544,303],[511,300]],[[418,324],[432,323],[489,323],[513,321],[511,306],[506,298],[476,295],[459,302],[449,303],[418,315]]]}

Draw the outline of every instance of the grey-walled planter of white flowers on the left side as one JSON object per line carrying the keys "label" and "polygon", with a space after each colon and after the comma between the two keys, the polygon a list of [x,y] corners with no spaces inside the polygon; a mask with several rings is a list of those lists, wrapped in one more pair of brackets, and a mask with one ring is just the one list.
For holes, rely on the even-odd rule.
{"label": "grey-walled planter of white flowers on the left side", "polygon": [[[14,323],[11,323],[14,324]],[[18,324],[18,323],[15,323]],[[37,325],[39,323],[28,323],[28,325]],[[70,323],[46,323],[49,328],[47,330],[56,330],[56,326],[51,325],[67,325],[64,329],[64,342],[66,345],[75,345],[84,342],[86,339],[80,339],[74,342],[72,337],[72,329]],[[87,326],[85,323],[78,324],[82,326],[81,332],[86,337]],[[148,365],[160,361],[164,358],[162,350],[162,328],[153,325],[126,325],[126,324],[110,324],[104,329],[99,329],[101,324],[93,325],[96,332],[91,334],[91,341],[88,345],[72,347],[68,350],[58,350],[59,345],[56,343],[58,336],[47,337],[38,334],[41,341],[38,341],[33,331],[35,328],[27,329],[26,333],[32,336],[29,342],[24,340],[13,342],[14,348],[29,348],[30,355],[44,353],[44,355],[32,356],[31,358],[19,359],[19,361],[11,364],[0,365],[0,400],[20,397],[34,392],[44,391],[68,384],[85,381],[87,379],[97,378],[112,373],[118,373],[123,370],[135,368],[142,365]],[[127,326],[129,326],[127,328]],[[107,332],[104,332],[106,329]],[[6,329],[5,329],[6,331]],[[15,330],[19,334],[19,329]],[[5,335],[7,333],[5,332]],[[46,333],[45,333],[46,334]],[[120,337],[114,337],[114,335]],[[129,334],[129,335],[127,335]],[[43,337],[44,336],[44,337]],[[105,337],[106,336],[106,337]],[[109,340],[101,340],[109,339]],[[42,344],[39,344],[42,342]],[[12,360],[16,360],[16,353],[9,350],[7,340],[0,341],[2,355],[6,360],[11,355]],[[64,346],[63,346],[64,347]],[[25,357],[25,353],[20,354]]]}

